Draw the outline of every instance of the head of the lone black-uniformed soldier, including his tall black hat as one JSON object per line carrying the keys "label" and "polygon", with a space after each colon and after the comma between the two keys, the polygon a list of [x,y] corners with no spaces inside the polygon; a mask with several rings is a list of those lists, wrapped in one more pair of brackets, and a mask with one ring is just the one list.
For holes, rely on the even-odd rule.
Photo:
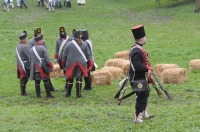
{"label": "head of the lone black-uniformed soldier, including his tall black hat", "polygon": [[137,25],[131,28],[135,41],[140,44],[146,44],[146,34],[144,30],[144,25]]}

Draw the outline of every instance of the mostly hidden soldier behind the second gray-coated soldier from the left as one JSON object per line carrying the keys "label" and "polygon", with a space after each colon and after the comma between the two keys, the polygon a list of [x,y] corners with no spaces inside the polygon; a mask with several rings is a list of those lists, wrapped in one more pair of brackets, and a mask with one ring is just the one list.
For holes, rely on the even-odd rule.
{"label": "mostly hidden soldier behind the second gray-coated soldier from the left", "polygon": [[[37,28],[36,30],[34,30],[34,37],[28,41],[29,50],[30,50],[33,46],[35,46],[35,43],[36,43],[35,37],[37,37],[38,35],[41,35],[41,34],[42,34],[41,28]],[[46,46],[46,43],[45,43],[44,38],[43,38],[43,45],[44,45],[45,48],[47,49],[47,46]],[[51,90],[51,91],[56,91],[55,88],[53,87],[53,84],[51,83],[50,78],[49,78],[49,83],[50,83],[50,90]]]}

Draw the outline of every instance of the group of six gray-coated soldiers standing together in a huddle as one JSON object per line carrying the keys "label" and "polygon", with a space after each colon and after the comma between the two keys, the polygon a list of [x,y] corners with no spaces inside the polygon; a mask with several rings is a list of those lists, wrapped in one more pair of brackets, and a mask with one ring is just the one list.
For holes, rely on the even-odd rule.
{"label": "group of six gray-coated soldiers standing together in a huddle", "polygon": [[[82,78],[85,81],[84,90],[91,90],[90,71],[95,70],[93,57],[93,43],[87,30],[72,30],[68,36],[65,28],[60,27],[60,36],[56,40],[54,62],[58,63],[66,78],[65,97],[71,96],[74,78],[76,79],[76,97],[80,98]],[[50,60],[47,45],[41,28],[34,30],[34,37],[26,43],[27,32],[19,36],[16,47],[17,73],[20,79],[21,95],[27,96],[26,84],[28,80],[35,80],[37,98],[41,97],[40,82],[44,82],[47,98],[54,98],[51,91],[55,91],[50,72],[53,64]]]}

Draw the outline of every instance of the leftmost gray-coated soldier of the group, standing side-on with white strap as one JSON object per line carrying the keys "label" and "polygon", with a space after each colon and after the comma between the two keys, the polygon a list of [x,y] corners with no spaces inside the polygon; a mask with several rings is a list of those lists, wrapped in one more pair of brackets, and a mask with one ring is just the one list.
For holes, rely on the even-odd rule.
{"label": "leftmost gray-coated soldier of the group, standing side-on with white strap", "polygon": [[28,82],[30,65],[29,65],[29,50],[26,45],[27,33],[24,31],[20,36],[20,41],[16,47],[16,59],[17,59],[17,75],[20,79],[21,95],[27,96],[26,83]]}

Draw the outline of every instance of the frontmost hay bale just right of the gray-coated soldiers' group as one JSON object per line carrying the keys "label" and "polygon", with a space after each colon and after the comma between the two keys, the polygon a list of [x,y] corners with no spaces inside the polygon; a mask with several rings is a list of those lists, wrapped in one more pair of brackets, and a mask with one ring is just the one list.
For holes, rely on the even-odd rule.
{"label": "frontmost hay bale just right of the gray-coated soldiers' group", "polygon": [[96,70],[91,73],[92,86],[94,85],[111,85],[112,75],[107,70]]}

